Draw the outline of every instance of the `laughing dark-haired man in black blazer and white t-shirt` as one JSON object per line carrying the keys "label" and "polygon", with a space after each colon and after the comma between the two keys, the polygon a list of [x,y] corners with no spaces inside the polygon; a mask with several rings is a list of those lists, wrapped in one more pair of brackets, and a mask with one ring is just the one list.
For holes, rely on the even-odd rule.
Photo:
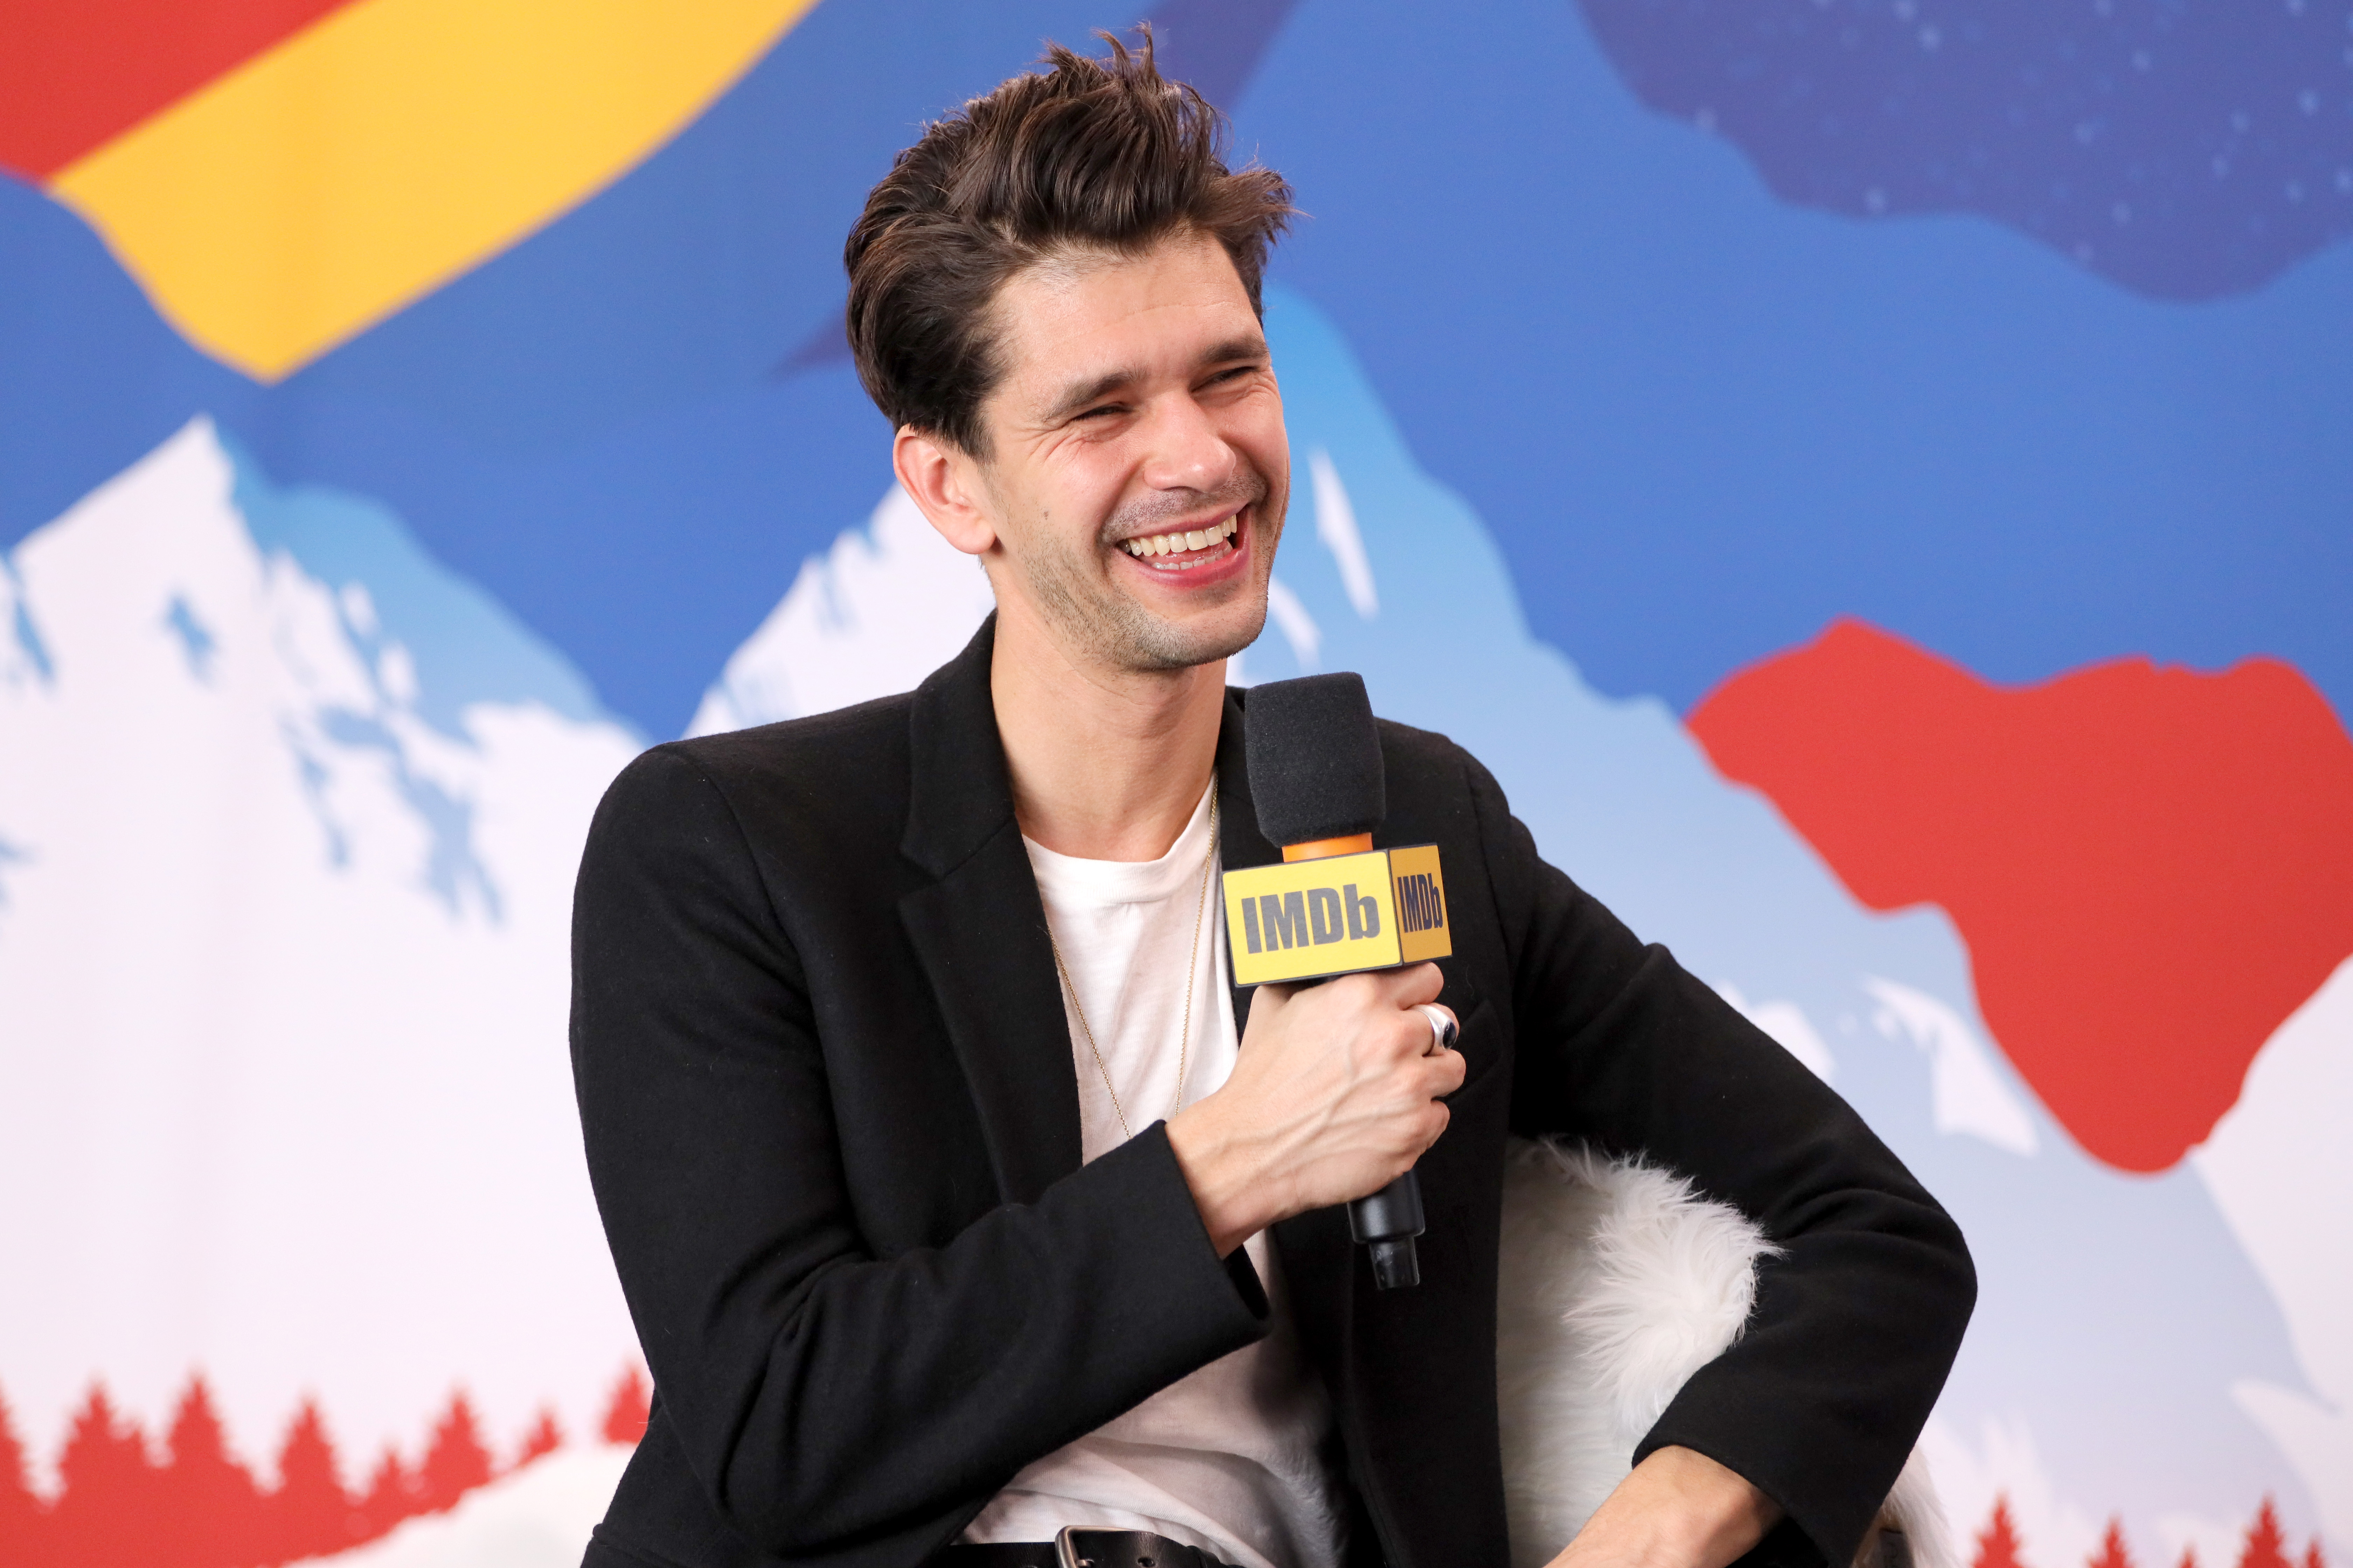
{"label": "laughing dark-haired man in black blazer and white t-shirt", "polygon": [[[588,1563],[1049,1563],[1064,1526],[1504,1563],[1506,1133],[1640,1150],[1781,1248],[1555,1561],[1842,1563],[1974,1279],[1828,1088],[1402,726],[1381,842],[1440,846],[1454,957],[1226,987],[1212,879],[1275,858],[1224,661],[1289,496],[1289,193],[1148,42],[1049,66],[847,247],[899,482],[998,614],[911,696],[654,748],[591,832],[574,1072],[656,1403]],[[1339,1206],[1409,1166],[1424,1284],[1381,1293]]]}

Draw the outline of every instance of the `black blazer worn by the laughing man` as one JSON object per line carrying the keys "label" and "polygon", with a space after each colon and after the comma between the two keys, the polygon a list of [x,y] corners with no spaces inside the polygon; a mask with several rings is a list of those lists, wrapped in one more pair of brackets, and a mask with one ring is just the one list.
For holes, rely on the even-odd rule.
{"label": "black blazer worn by the laughing man", "polygon": [[[598,809],[572,1067],[656,1396],[591,1568],[913,1568],[1026,1462],[1266,1328],[1165,1124],[1080,1166],[991,642],[993,621],[908,696],[659,745]],[[1247,710],[1226,696],[1217,748],[1228,867],[1278,858]],[[1539,860],[1468,752],[1400,724],[1381,748],[1377,839],[1442,851],[1468,1081],[1419,1166],[1419,1288],[1372,1288],[1344,1211],[1273,1234],[1353,1561],[1508,1561],[1494,1293],[1522,1133],[1640,1150],[1784,1248],[1640,1453],[1713,1455],[1788,1509],[1767,1547],[1845,1563],[1960,1345],[1960,1232],[1838,1095]]]}

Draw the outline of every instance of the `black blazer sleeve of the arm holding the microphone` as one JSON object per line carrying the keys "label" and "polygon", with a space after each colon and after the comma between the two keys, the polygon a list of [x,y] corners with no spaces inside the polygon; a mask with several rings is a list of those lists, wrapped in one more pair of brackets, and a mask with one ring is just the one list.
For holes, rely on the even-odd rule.
{"label": "black blazer sleeve of the arm holding the microphone", "polygon": [[572,952],[588,1173],[656,1422],[765,1552],[920,1556],[1026,1462],[1266,1331],[1158,1126],[946,1246],[871,1255],[805,959],[692,757],[647,752],[607,792]]}

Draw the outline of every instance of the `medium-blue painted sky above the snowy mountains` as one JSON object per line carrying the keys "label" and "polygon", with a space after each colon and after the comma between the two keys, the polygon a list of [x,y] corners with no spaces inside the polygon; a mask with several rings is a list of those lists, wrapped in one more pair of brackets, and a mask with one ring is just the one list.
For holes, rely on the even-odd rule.
{"label": "medium-blue painted sky above the snowy mountains", "polygon": [[[87,228],[0,183],[0,543],[212,411],[675,733],[887,482],[847,367],[786,369],[840,306],[864,188],[1038,40],[1118,21],[821,5],[612,190],[278,388],[188,350]],[[1692,26],[1628,12],[1612,38],[1633,59],[1628,28],[1657,54]],[[2346,73],[2334,42],[2315,73]],[[2341,244],[2179,303],[1998,216],[1795,207],[1645,108],[1562,0],[1306,0],[1231,108],[1311,214],[1275,277],[1602,691],[1682,710],[1857,614],[1995,679],[2273,654],[2353,712]]]}

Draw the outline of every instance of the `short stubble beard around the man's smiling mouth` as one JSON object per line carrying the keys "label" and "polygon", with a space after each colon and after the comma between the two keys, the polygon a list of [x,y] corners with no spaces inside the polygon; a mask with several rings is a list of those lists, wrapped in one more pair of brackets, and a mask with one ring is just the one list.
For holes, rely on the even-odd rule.
{"label": "short stubble beard around the man's smiling mouth", "polygon": [[[1040,527],[1042,548],[1031,550],[1024,559],[1024,576],[1038,599],[1038,611],[1089,656],[1120,670],[1191,670],[1233,658],[1266,628],[1266,578],[1273,571],[1275,538],[1282,534],[1282,517],[1268,515],[1268,494],[1266,480],[1252,473],[1181,503],[1129,505],[1104,522],[1085,555],[1059,543],[1052,527]],[[1148,534],[1155,522],[1174,522],[1186,512],[1198,512],[1205,503],[1254,508],[1249,520],[1252,574],[1233,583],[1233,592],[1252,602],[1252,614],[1240,621],[1217,616],[1207,625],[1186,625],[1155,616],[1139,599],[1120,592],[1115,578],[1104,571],[1101,552],[1115,550],[1120,538]]]}

